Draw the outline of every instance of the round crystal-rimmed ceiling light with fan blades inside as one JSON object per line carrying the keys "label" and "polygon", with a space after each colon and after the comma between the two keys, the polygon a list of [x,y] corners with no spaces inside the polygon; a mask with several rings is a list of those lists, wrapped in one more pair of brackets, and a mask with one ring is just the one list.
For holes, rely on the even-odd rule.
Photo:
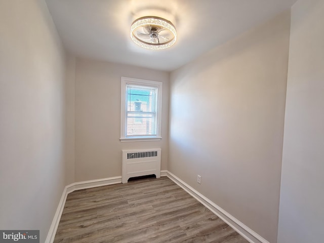
{"label": "round crystal-rimmed ceiling light with fan blades inside", "polygon": [[131,38],[140,47],[161,50],[171,47],[176,42],[177,31],[166,19],[146,16],[132,23]]}

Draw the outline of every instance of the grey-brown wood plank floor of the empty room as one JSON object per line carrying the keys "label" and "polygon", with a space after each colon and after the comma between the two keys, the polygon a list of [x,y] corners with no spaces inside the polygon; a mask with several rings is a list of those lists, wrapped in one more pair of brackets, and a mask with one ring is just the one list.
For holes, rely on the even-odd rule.
{"label": "grey-brown wood plank floor of the empty room", "polygon": [[167,177],[70,193],[54,242],[248,243]]}

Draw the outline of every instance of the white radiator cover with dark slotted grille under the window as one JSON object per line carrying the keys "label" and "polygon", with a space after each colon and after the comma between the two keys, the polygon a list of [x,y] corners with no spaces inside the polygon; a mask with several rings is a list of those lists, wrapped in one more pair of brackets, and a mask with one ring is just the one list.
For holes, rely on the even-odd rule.
{"label": "white radiator cover with dark slotted grille under the window", "polygon": [[137,176],[161,175],[161,149],[132,149],[123,150],[123,172],[121,182]]}

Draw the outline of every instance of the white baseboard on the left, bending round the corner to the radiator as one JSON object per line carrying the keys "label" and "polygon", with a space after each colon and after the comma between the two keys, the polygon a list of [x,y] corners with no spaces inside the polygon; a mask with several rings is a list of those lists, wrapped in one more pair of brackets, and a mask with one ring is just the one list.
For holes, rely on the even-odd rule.
{"label": "white baseboard on the left, bending round the corner to the radiator", "polygon": [[54,242],[57,227],[59,226],[59,222],[64,209],[66,197],[69,193],[75,190],[87,189],[87,188],[97,187],[97,186],[106,186],[106,185],[117,184],[117,183],[121,183],[121,176],[109,177],[109,178],[98,179],[98,180],[75,182],[65,186],[61,196],[61,200],[59,202],[56,213],[54,215],[50,230],[47,234],[45,243]]}

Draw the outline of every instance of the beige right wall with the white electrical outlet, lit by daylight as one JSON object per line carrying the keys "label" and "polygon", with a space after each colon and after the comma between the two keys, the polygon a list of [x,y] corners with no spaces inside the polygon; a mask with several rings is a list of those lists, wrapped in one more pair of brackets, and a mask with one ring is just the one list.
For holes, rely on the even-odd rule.
{"label": "beige right wall with the white electrical outlet, lit by daylight", "polygon": [[290,13],[281,14],[170,81],[169,171],[269,242],[277,239],[289,30]]}

